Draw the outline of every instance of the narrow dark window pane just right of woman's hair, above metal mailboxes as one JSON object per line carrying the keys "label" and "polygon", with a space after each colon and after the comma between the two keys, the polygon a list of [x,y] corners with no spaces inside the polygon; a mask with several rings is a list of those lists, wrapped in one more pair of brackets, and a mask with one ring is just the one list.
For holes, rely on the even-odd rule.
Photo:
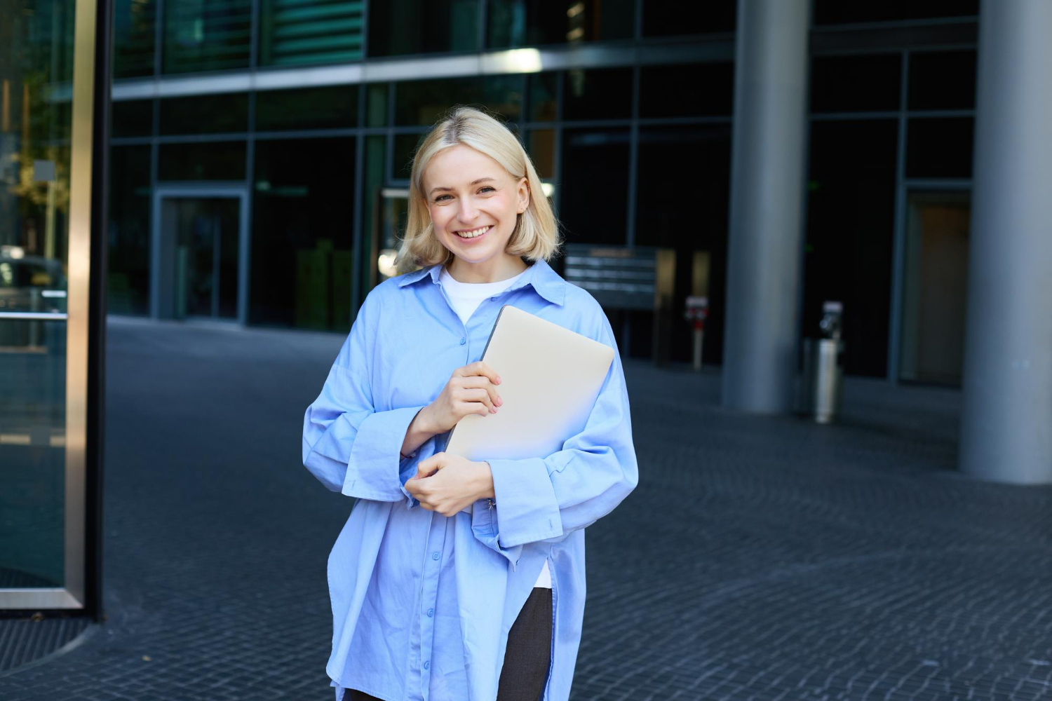
{"label": "narrow dark window pane just right of woman's hair, above metal mailboxes", "polygon": [[566,129],[562,157],[559,218],[567,243],[624,244],[628,129]]}

